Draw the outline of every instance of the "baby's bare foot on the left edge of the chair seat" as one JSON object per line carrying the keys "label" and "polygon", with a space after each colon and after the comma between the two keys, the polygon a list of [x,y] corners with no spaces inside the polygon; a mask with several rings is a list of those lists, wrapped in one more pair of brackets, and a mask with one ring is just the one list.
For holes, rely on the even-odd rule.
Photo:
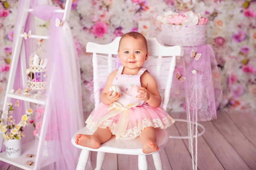
{"label": "baby's bare foot on the left edge of the chair seat", "polygon": [[99,138],[93,135],[76,135],[75,143],[88,148],[98,149],[101,146]]}

